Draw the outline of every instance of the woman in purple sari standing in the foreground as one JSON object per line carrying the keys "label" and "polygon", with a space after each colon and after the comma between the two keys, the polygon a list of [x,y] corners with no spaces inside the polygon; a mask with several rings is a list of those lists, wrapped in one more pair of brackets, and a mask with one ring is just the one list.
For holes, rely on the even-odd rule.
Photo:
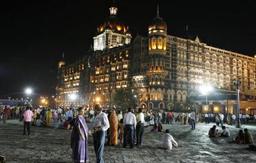
{"label": "woman in purple sari standing in the foreground", "polygon": [[73,162],[88,162],[88,127],[83,118],[85,110],[78,108],[78,116],[74,121],[71,135],[71,148]]}

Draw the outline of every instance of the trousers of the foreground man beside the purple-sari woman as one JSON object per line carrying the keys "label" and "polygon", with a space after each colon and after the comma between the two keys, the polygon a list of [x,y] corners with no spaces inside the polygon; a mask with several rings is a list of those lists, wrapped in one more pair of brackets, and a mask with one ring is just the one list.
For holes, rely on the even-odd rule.
{"label": "trousers of the foreground man beside the purple-sari woman", "polygon": [[103,151],[105,144],[105,131],[96,131],[94,132],[94,151],[96,153],[96,162],[103,163]]}

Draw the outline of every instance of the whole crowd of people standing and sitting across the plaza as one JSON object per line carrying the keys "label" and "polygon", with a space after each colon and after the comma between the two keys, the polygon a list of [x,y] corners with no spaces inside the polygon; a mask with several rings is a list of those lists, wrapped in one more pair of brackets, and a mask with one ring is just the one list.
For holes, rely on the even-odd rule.
{"label": "whole crowd of people standing and sitting across the plaza", "polygon": [[[129,146],[131,149],[140,148],[142,145],[142,137],[145,127],[151,126],[152,132],[162,132],[164,128],[162,124],[191,125],[191,129],[195,129],[195,124],[204,121],[205,123],[216,123],[209,130],[210,138],[230,137],[231,133],[224,121],[230,125],[235,125],[235,114],[198,114],[193,110],[184,112],[172,112],[171,110],[142,110],[138,108],[131,110],[128,108],[122,113],[115,108],[103,110],[100,105],[94,108],[30,108],[29,106],[12,106],[0,108],[0,120],[3,123],[7,119],[19,119],[23,121],[23,135],[30,136],[30,124],[36,127],[50,127],[51,121],[57,121],[56,128],[72,129],[71,147],[72,159],[74,162],[88,161],[88,136],[94,138],[94,151],[96,153],[97,162],[103,162],[103,151],[105,146],[105,138],[107,145],[121,145],[123,148]],[[242,118],[247,115],[242,114]],[[246,119],[246,118],[245,118]],[[241,119],[244,123],[244,121]],[[245,120],[248,122],[248,120]],[[89,130],[87,123],[94,123],[93,129]],[[217,126],[222,127],[219,132]],[[253,143],[253,136],[248,129],[239,130],[237,137],[233,139],[237,144]],[[162,147],[171,150],[178,147],[178,143],[170,134],[169,129],[165,129],[162,133]]]}

